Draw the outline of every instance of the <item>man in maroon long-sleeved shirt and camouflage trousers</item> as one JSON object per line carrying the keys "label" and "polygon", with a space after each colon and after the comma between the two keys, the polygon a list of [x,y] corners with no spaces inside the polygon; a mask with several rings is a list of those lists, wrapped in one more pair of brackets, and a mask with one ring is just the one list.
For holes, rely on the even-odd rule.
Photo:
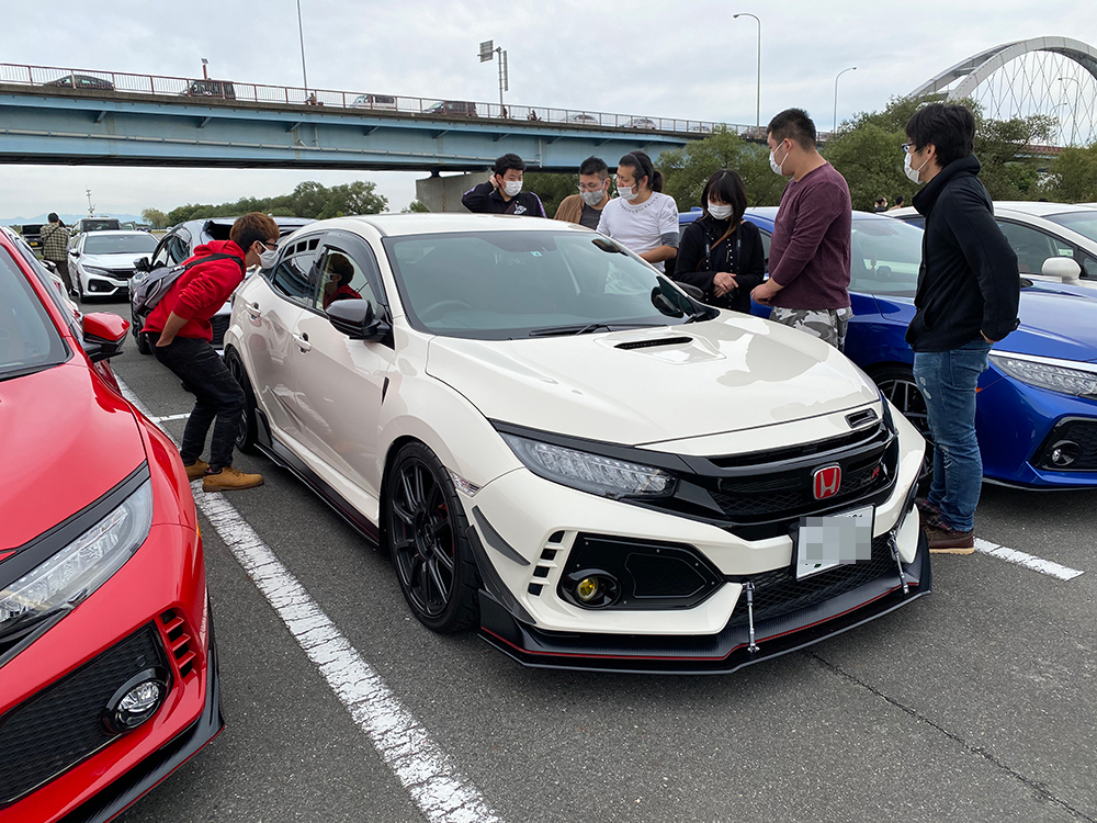
{"label": "man in maroon long-sleeved shirt and camouflage trousers", "polygon": [[791,177],[781,194],[769,251],[769,280],[750,293],[773,306],[770,319],[846,343],[852,205],[846,179],[815,149],[815,124],[800,109],[770,121],[769,165]]}

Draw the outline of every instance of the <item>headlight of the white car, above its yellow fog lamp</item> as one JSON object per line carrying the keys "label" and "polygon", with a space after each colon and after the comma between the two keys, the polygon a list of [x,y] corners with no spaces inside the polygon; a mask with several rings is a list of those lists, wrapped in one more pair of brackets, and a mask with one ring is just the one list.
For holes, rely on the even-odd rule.
{"label": "headlight of the white car, above its yellow fog lamp", "polygon": [[516,435],[502,438],[534,474],[584,492],[603,497],[665,497],[675,488],[674,475],[661,469]]}

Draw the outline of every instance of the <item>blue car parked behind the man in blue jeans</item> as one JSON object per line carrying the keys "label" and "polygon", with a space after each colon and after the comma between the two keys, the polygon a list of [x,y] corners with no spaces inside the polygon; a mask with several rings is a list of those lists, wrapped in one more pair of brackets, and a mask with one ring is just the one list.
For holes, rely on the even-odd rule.
{"label": "blue car parked behind the man in blue jeans", "polygon": [[[700,211],[679,216],[685,229]],[[776,207],[749,208],[769,257]],[[914,317],[921,229],[853,212],[846,356],[929,436],[904,336]],[[1097,291],[1021,279],[1021,325],[991,351],[975,429],[984,480],[1028,488],[1097,487]],[[751,303],[751,313],[769,316]]]}

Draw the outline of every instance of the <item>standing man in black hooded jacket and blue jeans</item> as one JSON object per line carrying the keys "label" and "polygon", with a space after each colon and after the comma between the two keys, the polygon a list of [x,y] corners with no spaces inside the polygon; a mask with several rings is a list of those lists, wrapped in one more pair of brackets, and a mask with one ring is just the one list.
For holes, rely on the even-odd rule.
{"label": "standing man in black hooded jacket and blue jeans", "polygon": [[921,271],[906,340],[936,443],[934,482],[918,501],[931,552],[975,551],[983,462],[975,438],[975,391],[991,345],[1017,328],[1017,256],[994,222],[994,205],[972,154],[975,121],[962,105],[932,103],[906,124],[906,174],[925,188]]}

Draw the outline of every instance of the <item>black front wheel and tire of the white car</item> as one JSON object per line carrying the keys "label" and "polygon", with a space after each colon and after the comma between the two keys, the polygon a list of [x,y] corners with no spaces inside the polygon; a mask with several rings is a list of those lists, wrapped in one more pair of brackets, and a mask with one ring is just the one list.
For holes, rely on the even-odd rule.
{"label": "black front wheel and tire of the white car", "polygon": [[420,442],[396,453],[386,482],[385,541],[404,599],[441,634],[479,623],[468,522],[449,473]]}

